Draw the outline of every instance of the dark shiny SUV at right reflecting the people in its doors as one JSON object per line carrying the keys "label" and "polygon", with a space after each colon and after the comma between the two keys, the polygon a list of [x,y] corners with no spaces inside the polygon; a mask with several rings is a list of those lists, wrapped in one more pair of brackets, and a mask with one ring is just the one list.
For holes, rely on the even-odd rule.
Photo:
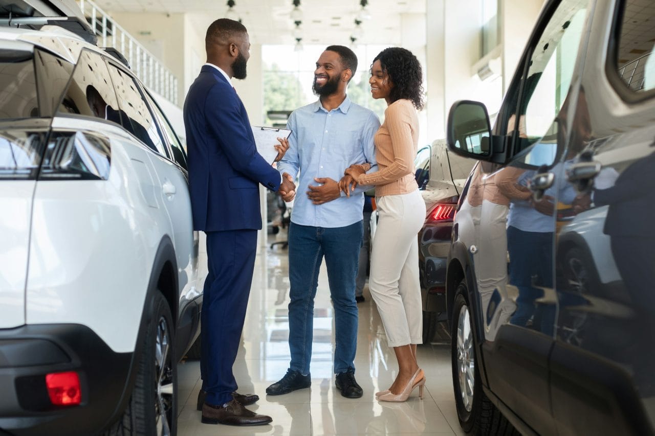
{"label": "dark shiny SUV at right reflecting the people in its doors", "polygon": [[493,128],[451,109],[449,149],[480,161],[446,278],[466,433],[655,432],[654,23],[652,1],[548,1]]}

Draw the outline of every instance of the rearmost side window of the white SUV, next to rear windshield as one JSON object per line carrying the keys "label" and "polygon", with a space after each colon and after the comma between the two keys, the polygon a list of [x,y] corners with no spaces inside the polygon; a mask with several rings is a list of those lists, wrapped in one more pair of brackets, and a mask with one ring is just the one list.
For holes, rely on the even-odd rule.
{"label": "rearmost side window of the white SUV, next to rear windshield", "polygon": [[101,118],[120,125],[118,107],[109,71],[102,56],[82,50],[58,113]]}

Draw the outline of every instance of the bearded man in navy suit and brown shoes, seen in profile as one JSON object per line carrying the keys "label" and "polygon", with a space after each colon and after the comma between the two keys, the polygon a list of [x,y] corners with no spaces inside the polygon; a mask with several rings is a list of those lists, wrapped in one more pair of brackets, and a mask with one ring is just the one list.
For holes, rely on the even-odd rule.
{"label": "bearded man in navy suit and brown shoes, seen in profile", "polygon": [[[207,235],[209,269],[200,321],[198,408],[205,424],[262,425],[271,417],[245,409],[259,397],[236,393],[232,366],[261,228],[259,183],[287,197],[295,194],[295,185],[257,153],[248,114],[230,84],[232,77],[246,78],[246,27],[226,18],[216,20],[207,29],[205,46],[207,64],[184,103],[193,228]],[[286,139],[280,143],[276,160],[289,147]]]}

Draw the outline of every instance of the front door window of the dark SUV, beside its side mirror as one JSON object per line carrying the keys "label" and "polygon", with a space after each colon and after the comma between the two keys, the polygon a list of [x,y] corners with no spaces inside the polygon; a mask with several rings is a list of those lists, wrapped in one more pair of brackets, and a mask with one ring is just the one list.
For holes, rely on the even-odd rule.
{"label": "front door window of the dark SUV, beside its side mirror", "polygon": [[550,165],[557,150],[557,124],[553,121],[569,93],[578,47],[585,25],[588,0],[563,0],[533,47],[521,92],[521,101],[508,102],[512,113],[505,119],[508,134],[515,132],[514,153],[533,147],[522,160],[532,166]]}

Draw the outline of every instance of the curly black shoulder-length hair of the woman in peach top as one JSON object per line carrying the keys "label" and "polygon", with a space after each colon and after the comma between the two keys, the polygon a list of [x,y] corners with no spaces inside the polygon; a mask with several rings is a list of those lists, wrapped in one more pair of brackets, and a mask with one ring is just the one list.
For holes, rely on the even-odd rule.
{"label": "curly black shoulder-length hair of the woman in peach top", "polygon": [[423,109],[423,73],[416,56],[406,48],[389,47],[375,56],[371,69],[377,60],[394,84],[389,93],[391,102],[406,98],[419,111]]}

